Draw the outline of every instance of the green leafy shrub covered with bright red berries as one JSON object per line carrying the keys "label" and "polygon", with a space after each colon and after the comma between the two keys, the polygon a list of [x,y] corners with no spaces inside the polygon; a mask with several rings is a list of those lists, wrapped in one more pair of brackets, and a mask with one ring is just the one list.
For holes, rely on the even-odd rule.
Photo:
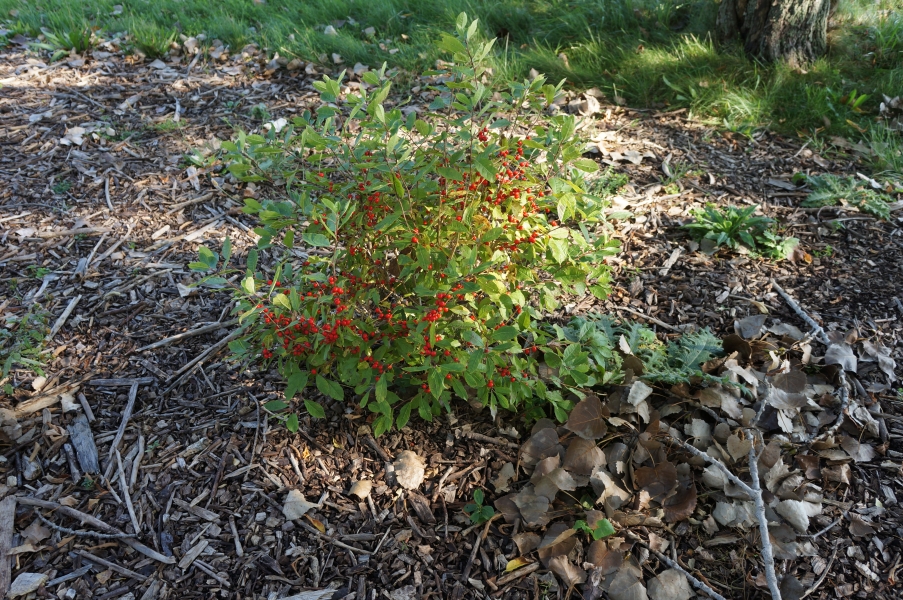
{"label": "green leafy shrub covered with bright red berries", "polygon": [[[315,114],[223,143],[235,178],[284,186],[283,199],[246,201],[261,238],[236,290],[243,337],[230,345],[285,377],[286,401],[271,410],[310,385],[336,401],[353,391],[376,434],[450,410],[453,394],[493,411],[569,410],[539,371],[577,352],[548,344],[544,312],[564,294],[604,298],[618,245],[602,231],[603,199],[586,191],[597,164],[582,158],[574,119],[543,116],[561,84],[490,87],[493,42],[476,31],[462,14],[457,35],[443,35],[453,62],[427,73],[438,94],[428,112],[387,108],[383,67],[360,93],[324,77]],[[262,252],[281,257],[267,273]],[[222,254],[202,248],[192,264],[221,269],[208,285],[228,285],[231,248]],[[596,384],[582,368],[561,387]]]}

